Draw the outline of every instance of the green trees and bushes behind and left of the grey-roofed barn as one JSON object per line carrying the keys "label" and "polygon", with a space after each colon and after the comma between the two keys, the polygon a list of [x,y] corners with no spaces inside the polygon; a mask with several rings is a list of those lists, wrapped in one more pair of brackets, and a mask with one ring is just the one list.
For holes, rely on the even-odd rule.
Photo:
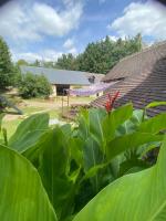
{"label": "green trees and bushes behind and left of the grey-roofed barn", "polygon": [[[34,76],[28,73],[21,75],[20,65],[44,66],[72,71],[85,71],[91,73],[106,74],[121,59],[142,50],[142,36],[127,38],[112,41],[106,36],[102,41],[89,43],[84,52],[74,56],[73,54],[62,54],[58,61],[29,63],[19,60],[13,63],[6,41],[0,36],[0,91],[8,86],[20,90],[24,97],[49,95],[51,88],[44,76]],[[35,88],[31,88],[33,85]]]}

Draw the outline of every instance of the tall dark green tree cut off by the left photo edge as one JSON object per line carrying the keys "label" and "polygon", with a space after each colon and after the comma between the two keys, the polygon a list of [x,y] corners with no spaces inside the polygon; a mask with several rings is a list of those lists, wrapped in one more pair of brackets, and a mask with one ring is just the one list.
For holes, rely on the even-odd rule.
{"label": "tall dark green tree cut off by the left photo edge", "polygon": [[0,88],[6,90],[12,85],[12,62],[9,48],[4,40],[0,36]]}

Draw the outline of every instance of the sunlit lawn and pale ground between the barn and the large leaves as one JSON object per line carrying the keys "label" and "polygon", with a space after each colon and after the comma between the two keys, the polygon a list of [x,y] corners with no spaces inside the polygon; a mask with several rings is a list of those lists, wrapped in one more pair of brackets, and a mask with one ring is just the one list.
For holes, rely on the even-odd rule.
{"label": "sunlit lawn and pale ground between the barn and the large leaves", "polygon": [[[92,97],[70,97],[71,104],[89,104]],[[23,112],[23,115],[6,115],[2,122],[2,127],[8,131],[8,138],[15,131],[18,125],[28,116],[37,113],[46,112],[50,115],[50,119],[62,119],[62,97],[56,97],[54,101],[45,101],[42,98],[21,99],[22,102],[17,106]],[[66,97],[64,97],[66,101]],[[64,102],[64,112],[66,112],[66,102]],[[64,119],[63,119],[64,120]]]}

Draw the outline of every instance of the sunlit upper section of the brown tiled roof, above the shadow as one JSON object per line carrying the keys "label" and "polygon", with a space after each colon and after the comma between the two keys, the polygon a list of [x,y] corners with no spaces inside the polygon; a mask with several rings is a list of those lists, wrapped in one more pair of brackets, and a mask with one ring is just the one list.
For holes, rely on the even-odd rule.
{"label": "sunlit upper section of the brown tiled roof, above the shadow", "polygon": [[166,55],[166,42],[149,46],[142,52],[121,60],[102,81],[123,78],[133,74],[151,72],[156,61]]}

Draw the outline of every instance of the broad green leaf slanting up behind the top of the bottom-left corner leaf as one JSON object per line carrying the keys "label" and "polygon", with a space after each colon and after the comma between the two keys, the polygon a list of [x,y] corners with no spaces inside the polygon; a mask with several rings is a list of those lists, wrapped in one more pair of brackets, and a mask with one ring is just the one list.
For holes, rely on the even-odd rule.
{"label": "broad green leaf slanting up behind the top of the bottom-left corner leaf", "polygon": [[24,152],[34,146],[49,128],[49,114],[35,114],[23,120],[9,139],[9,147]]}

